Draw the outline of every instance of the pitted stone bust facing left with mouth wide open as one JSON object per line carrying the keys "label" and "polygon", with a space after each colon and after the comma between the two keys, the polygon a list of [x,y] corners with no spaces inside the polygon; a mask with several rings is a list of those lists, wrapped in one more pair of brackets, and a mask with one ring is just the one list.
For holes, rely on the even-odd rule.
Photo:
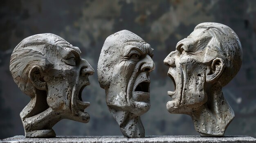
{"label": "pitted stone bust facing left with mouth wide open", "polygon": [[234,111],[222,87],[238,73],[242,46],[236,33],[219,23],[201,23],[165,59],[175,91],[167,110],[192,117],[201,136],[223,136]]}

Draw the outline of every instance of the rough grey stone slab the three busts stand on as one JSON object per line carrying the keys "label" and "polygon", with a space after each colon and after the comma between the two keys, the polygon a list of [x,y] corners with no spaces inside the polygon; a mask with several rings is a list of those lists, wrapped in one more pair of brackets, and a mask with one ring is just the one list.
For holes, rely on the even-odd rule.
{"label": "rough grey stone slab the three busts stand on", "polygon": [[14,136],[0,143],[256,143],[250,136],[146,136],[129,139],[124,136],[57,136],[56,138],[25,138]]}

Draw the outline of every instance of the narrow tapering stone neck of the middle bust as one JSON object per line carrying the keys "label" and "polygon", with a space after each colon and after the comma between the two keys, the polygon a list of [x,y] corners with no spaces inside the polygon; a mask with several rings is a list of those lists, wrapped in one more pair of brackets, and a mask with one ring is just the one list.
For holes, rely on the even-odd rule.
{"label": "narrow tapering stone neck of the middle bust", "polygon": [[139,116],[132,116],[132,113],[127,111],[115,110],[108,106],[111,114],[119,124],[121,132],[128,138],[145,137],[145,131]]}

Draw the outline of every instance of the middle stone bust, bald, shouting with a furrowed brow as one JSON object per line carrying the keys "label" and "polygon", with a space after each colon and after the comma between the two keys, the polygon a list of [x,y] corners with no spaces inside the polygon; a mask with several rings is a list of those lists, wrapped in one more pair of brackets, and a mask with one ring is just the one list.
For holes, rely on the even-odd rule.
{"label": "middle stone bust, bald, shouting with a furrowed brow", "polygon": [[141,37],[122,30],[107,37],[99,57],[98,80],[106,103],[129,138],[145,136],[140,116],[150,108],[152,56],[153,49]]}

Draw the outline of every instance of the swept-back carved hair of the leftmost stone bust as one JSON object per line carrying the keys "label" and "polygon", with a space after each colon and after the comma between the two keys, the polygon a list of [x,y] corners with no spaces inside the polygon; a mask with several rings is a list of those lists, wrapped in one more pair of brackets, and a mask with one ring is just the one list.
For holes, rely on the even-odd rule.
{"label": "swept-back carved hair of the leftmost stone bust", "polygon": [[49,69],[51,63],[48,57],[52,54],[47,53],[47,49],[56,46],[56,42],[60,40],[64,39],[51,33],[37,34],[25,38],[14,48],[10,61],[11,75],[20,90],[31,98],[35,93],[29,71],[35,65],[44,71]]}

